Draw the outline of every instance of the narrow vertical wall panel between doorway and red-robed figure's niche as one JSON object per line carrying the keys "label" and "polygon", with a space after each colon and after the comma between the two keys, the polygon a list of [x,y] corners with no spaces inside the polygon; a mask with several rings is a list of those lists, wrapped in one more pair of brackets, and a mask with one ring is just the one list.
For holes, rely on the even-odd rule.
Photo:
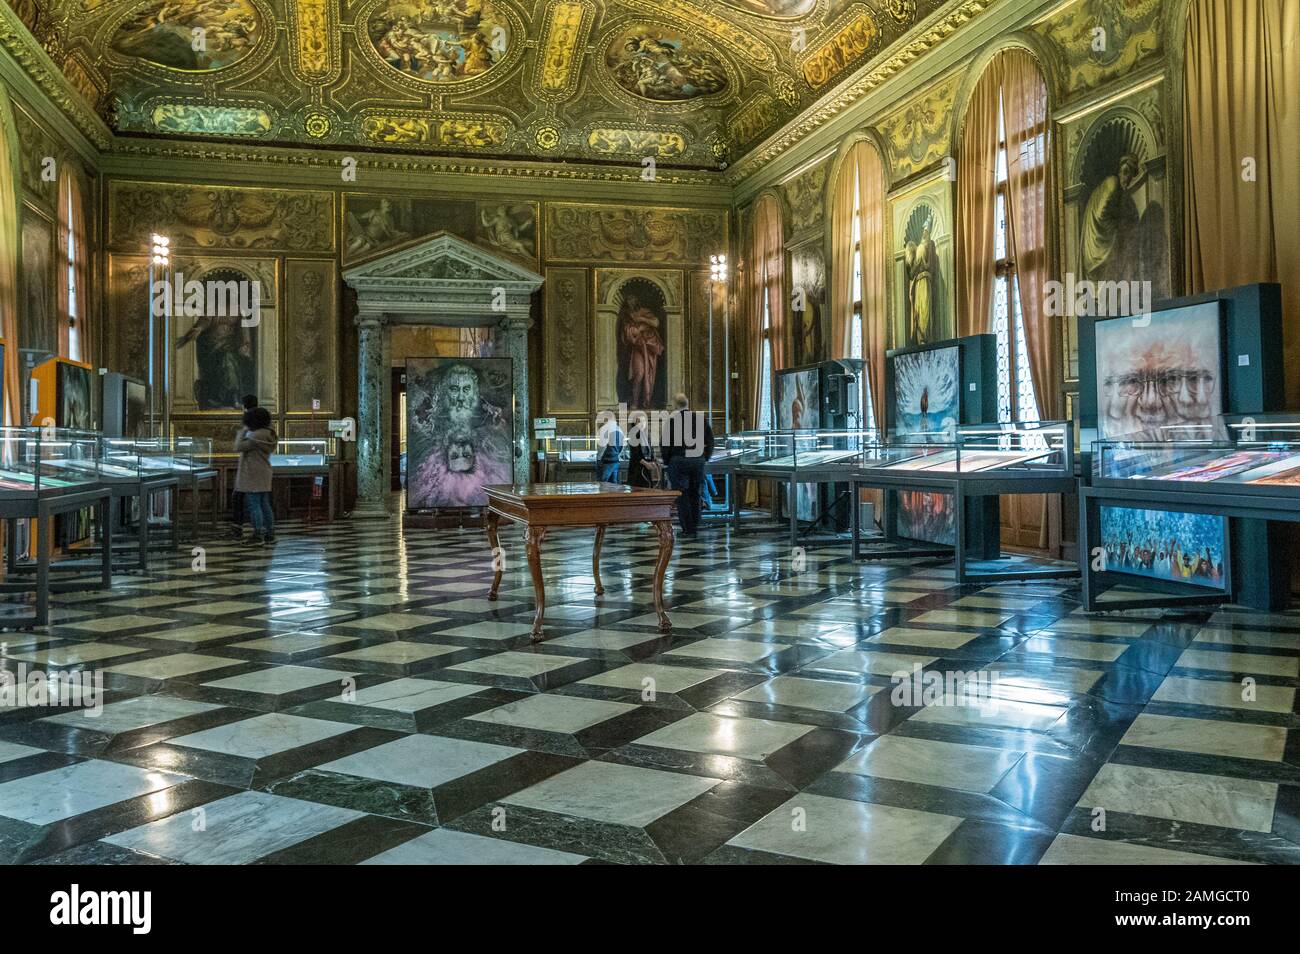
{"label": "narrow vertical wall panel between doorway and red-robed figure's niche", "polygon": [[590,413],[592,312],[588,269],[546,269],[542,395],[547,415]]}

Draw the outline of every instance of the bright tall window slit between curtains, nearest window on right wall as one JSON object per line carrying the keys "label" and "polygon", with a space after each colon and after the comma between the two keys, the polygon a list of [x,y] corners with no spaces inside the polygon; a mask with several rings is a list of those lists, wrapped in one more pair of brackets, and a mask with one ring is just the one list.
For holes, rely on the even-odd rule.
{"label": "bright tall window slit between curtains, nearest window on right wall", "polygon": [[1030,352],[1024,341],[1020,290],[1008,235],[1006,117],[1002,97],[997,105],[997,196],[993,212],[993,333],[997,335],[997,419],[1000,421],[1039,420],[1034,395]]}

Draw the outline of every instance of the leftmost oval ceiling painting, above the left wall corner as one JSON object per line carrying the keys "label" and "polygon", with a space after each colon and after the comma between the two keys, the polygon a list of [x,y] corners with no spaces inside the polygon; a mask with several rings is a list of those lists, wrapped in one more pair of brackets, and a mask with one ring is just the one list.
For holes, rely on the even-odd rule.
{"label": "leftmost oval ceiling painting, above the left wall corner", "polygon": [[243,60],[264,32],[250,0],[152,0],[118,25],[110,45],[156,66],[211,71]]}

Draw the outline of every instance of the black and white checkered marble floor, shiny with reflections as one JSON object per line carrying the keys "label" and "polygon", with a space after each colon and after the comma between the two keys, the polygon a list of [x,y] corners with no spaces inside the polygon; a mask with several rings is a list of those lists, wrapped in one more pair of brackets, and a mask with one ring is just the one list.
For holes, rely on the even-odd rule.
{"label": "black and white checkered marble floor, shiny with reflections", "polygon": [[1300,862],[1300,611],[1087,616],[715,529],[662,637],[653,534],[607,537],[597,598],[575,530],[533,646],[503,543],[495,603],[481,532],[341,521],[0,633],[105,686],[0,708],[0,862]]}

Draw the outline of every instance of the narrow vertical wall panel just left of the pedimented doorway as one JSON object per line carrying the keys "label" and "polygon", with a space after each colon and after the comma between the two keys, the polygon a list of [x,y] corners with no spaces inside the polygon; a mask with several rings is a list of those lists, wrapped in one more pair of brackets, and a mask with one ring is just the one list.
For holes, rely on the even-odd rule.
{"label": "narrow vertical wall panel just left of the pedimented doorway", "polygon": [[[320,406],[313,408],[313,400]],[[285,263],[285,411],[338,412],[338,276],[333,261]]]}

